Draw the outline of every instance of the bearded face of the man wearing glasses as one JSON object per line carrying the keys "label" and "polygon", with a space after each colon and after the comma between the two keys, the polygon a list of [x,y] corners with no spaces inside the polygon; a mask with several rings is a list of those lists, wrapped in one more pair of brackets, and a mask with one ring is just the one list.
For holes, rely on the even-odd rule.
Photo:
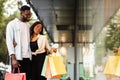
{"label": "bearded face of the man wearing glasses", "polygon": [[28,22],[30,21],[30,18],[31,18],[31,11],[30,10],[22,11],[21,16],[22,16],[23,22]]}

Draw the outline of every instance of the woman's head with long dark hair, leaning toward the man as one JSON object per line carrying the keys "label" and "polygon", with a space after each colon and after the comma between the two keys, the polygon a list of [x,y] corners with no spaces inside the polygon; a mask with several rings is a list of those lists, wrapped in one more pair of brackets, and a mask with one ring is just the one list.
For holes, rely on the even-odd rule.
{"label": "woman's head with long dark hair, leaning toward the man", "polygon": [[36,21],[32,24],[32,26],[30,27],[30,36],[32,36],[33,34],[43,34],[42,22]]}

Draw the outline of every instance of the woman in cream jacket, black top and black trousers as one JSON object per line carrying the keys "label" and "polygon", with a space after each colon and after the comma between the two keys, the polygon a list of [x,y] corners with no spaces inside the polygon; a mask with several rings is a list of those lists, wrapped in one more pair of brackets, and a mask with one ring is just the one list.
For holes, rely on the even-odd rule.
{"label": "woman in cream jacket, black top and black trousers", "polygon": [[46,80],[41,76],[45,56],[48,53],[56,52],[51,49],[47,37],[42,34],[43,25],[37,21],[30,27],[30,47],[32,51],[32,80]]}

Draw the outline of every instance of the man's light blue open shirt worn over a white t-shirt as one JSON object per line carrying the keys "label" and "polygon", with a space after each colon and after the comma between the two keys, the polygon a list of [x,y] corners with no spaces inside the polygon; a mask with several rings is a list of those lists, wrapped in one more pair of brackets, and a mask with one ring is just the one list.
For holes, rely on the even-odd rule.
{"label": "man's light blue open shirt worn over a white t-shirt", "polygon": [[[22,60],[22,51],[21,51],[21,25],[20,20],[15,18],[10,21],[6,28],[6,44],[8,48],[9,55],[15,54],[17,60]],[[28,29],[29,30],[29,29]],[[29,34],[28,34],[29,35]],[[30,35],[29,35],[30,36]],[[30,45],[30,38],[28,36],[28,45]],[[17,46],[14,47],[13,42],[17,43]],[[29,55],[31,59],[31,50],[29,46]]]}

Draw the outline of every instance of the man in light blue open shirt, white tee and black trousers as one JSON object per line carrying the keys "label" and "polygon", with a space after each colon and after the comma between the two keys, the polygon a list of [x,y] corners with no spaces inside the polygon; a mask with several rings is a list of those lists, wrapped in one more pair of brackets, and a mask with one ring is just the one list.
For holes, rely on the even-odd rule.
{"label": "man in light blue open shirt, white tee and black trousers", "polygon": [[[31,50],[28,21],[31,17],[30,7],[20,8],[20,17],[10,21],[6,28],[6,44],[12,60],[12,68],[19,67],[26,73],[26,80],[31,77]],[[16,71],[15,71],[16,72]]]}

